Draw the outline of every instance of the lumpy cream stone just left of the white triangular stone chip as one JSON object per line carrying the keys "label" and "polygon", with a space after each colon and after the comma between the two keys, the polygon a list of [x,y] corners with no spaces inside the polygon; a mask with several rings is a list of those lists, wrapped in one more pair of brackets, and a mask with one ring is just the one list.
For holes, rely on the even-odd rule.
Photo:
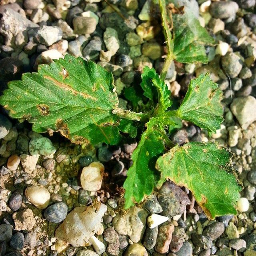
{"label": "lumpy cream stone just left of the white triangular stone chip", "polygon": [[112,226],[116,232],[122,235],[128,235],[132,242],[139,242],[146,229],[146,217],[148,213],[139,207],[132,207],[125,216],[116,214],[113,218]]}

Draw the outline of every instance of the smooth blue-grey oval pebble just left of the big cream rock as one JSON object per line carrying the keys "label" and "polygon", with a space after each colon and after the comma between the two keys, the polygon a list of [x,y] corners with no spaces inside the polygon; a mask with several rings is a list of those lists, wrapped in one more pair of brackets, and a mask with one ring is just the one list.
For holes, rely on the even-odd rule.
{"label": "smooth blue-grey oval pebble just left of the big cream rock", "polygon": [[44,217],[49,222],[59,223],[66,218],[67,214],[68,206],[64,202],[59,202],[49,206],[44,212]]}

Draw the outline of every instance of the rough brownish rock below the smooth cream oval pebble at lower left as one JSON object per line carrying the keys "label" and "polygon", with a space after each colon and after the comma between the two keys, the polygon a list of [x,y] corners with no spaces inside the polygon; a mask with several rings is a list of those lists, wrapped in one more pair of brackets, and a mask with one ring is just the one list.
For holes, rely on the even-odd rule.
{"label": "rough brownish rock below the smooth cream oval pebble at lower left", "polygon": [[16,230],[32,230],[36,224],[34,214],[30,209],[19,210],[12,214]]}

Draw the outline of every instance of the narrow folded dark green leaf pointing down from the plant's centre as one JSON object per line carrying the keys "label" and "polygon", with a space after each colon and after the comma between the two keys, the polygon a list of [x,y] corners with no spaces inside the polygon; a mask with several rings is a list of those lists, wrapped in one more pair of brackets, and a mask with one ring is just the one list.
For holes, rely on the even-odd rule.
{"label": "narrow folded dark green leaf pointing down from the plant's centre", "polygon": [[157,121],[151,118],[147,130],[142,134],[137,148],[132,154],[133,164],[127,172],[124,182],[125,205],[130,208],[135,202],[140,202],[144,195],[150,195],[155,185],[157,158],[164,153],[162,133],[158,130]]}

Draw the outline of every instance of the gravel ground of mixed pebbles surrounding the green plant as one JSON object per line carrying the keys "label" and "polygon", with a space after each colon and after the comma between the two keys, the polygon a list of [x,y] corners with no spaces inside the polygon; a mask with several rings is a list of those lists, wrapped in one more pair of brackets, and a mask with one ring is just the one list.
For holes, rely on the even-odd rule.
{"label": "gravel ground of mixed pebbles surrounding the green plant", "polygon": [[[120,97],[144,66],[161,68],[163,37],[148,0],[108,0],[111,6],[100,0],[0,2],[1,90],[23,72],[66,53],[112,71]],[[179,144],[211,140],[230,148],[244,183],[238,215],[209,221],[190,192],[171,182],[124,212],[122,183],[135,141],[83,148],[58,135],[32,132],[2,110],[0,256],[256,256],[256,3],[178,2],[198,16],[216,45],[207,47],[208,65],[172,63],[166,83],[179,102],[191,78],[210,72],[224,92],[225,114],[211,137],[184,122],[172,139]],[[153,224],[165,222],[149,228],[152,213],[167,218],[150,217]]]}

